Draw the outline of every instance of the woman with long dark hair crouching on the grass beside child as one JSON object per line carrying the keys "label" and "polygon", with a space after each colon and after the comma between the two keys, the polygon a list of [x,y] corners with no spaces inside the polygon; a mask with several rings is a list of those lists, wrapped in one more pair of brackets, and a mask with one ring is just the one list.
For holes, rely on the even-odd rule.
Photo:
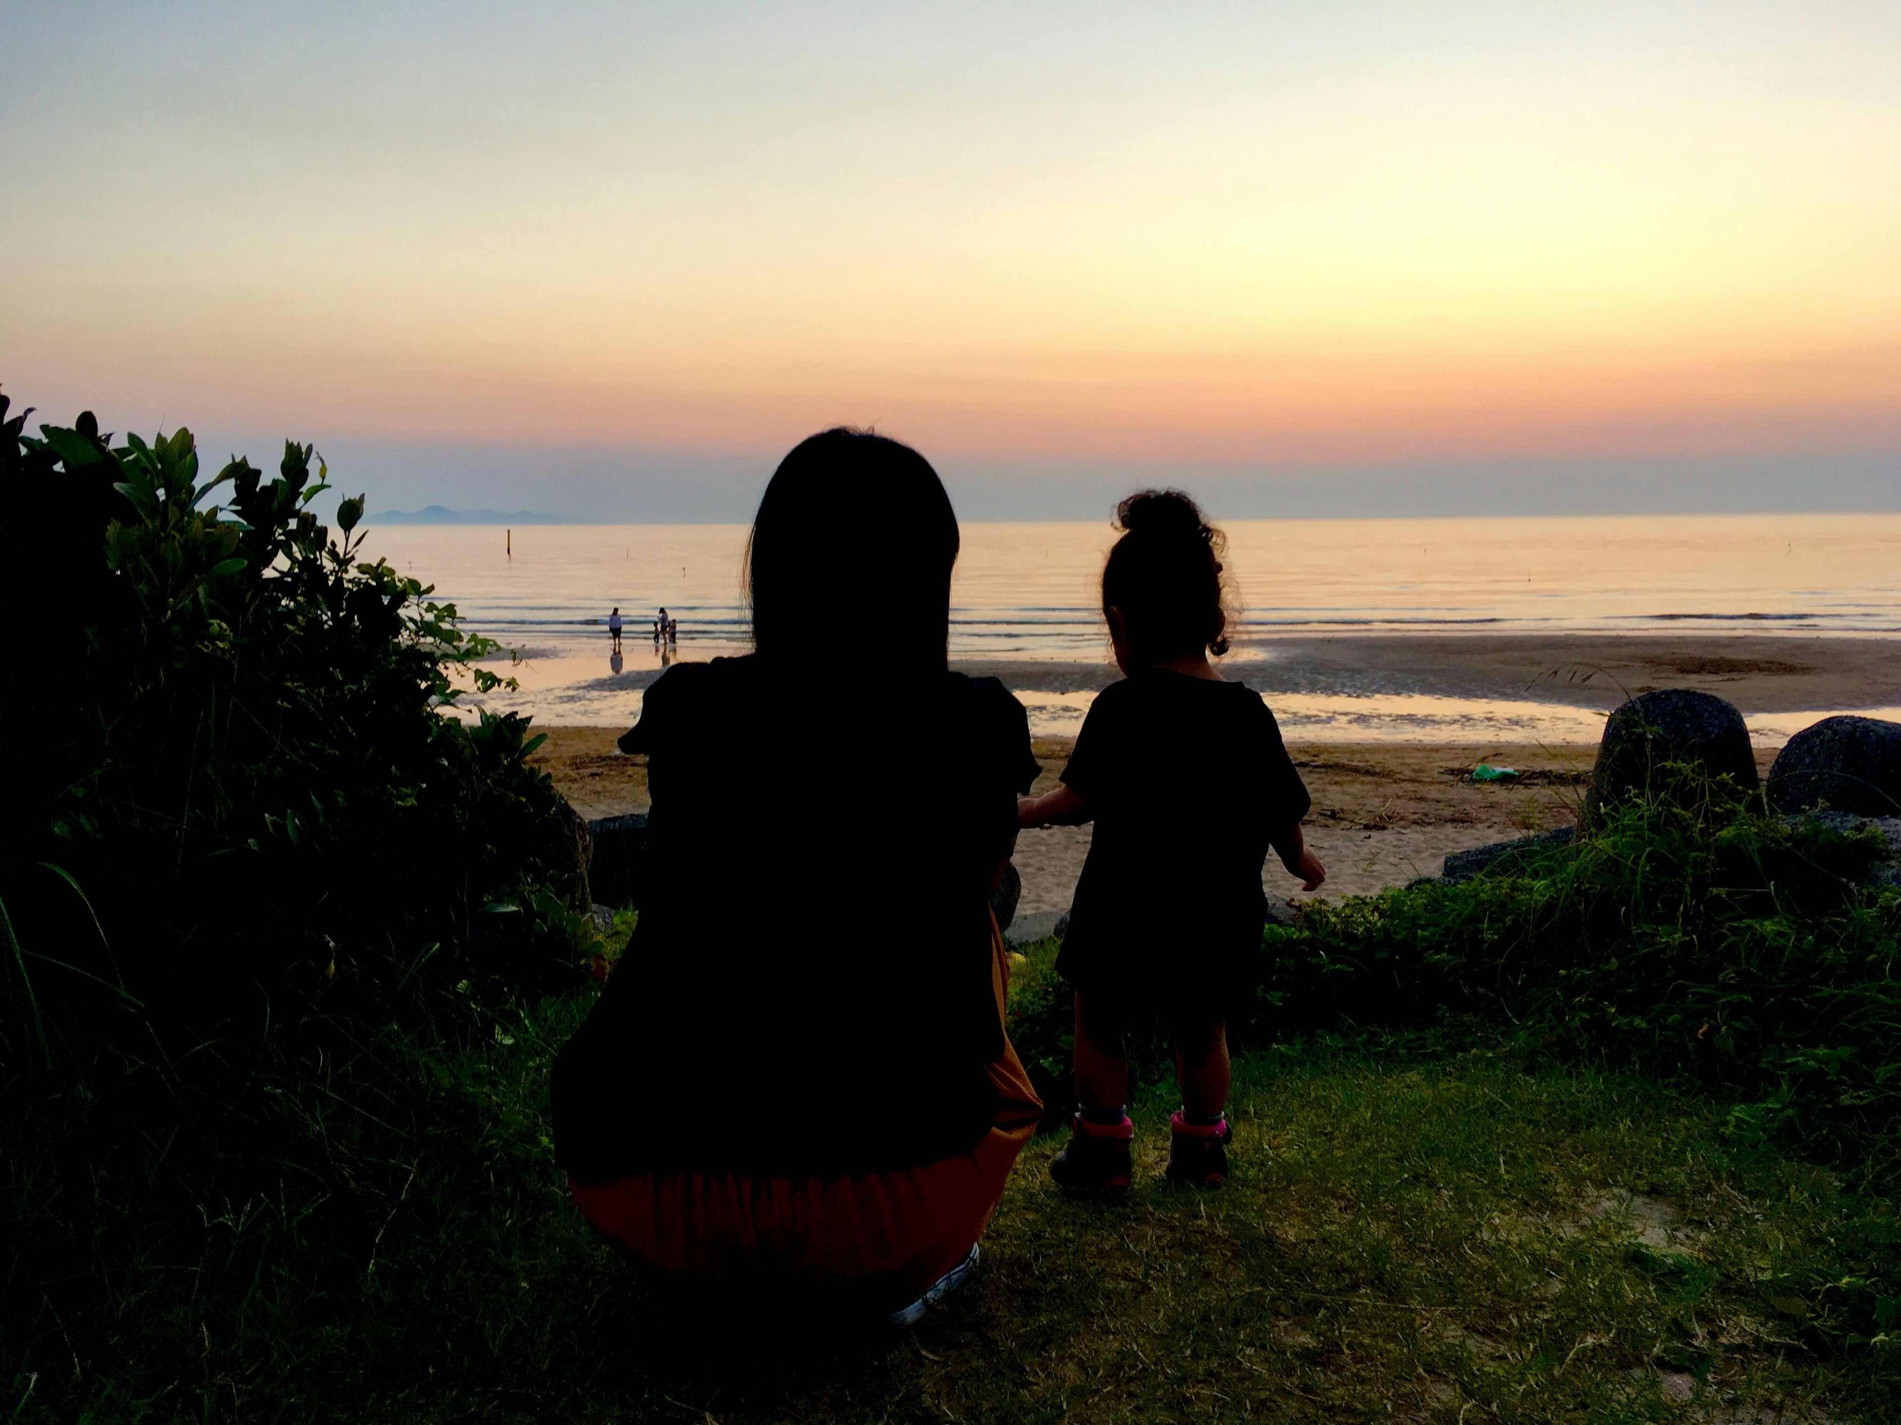
{"label": "woman with long dark hair crouching on the grass beside child", "polygon": [[[1042,1106],[1004,1034],[990,891],[1038,773],[1023,705],[945,665],[958,526],[926,460],[833,429],[753,522],[745,657],[675,663],[648,758],[646,897],[553,1074],[582,1214],[639,1262],[895,1324],[962,1282]],[[810,656],[854,608],[907,711],[903,798],[859,678]],[[876,821],[876,830],[867,828]],[[873,933],[840,933],[840,910]]]}

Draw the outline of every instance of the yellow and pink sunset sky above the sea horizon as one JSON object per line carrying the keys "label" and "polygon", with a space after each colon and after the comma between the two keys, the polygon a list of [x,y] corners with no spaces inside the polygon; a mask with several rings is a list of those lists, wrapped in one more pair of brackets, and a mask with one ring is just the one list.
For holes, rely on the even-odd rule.
{"label": "yellow and pink sunset sky above the sea horizon", "polygon": [[0,0],[0,386],[373,505],[1901,507],[1901,6]]}

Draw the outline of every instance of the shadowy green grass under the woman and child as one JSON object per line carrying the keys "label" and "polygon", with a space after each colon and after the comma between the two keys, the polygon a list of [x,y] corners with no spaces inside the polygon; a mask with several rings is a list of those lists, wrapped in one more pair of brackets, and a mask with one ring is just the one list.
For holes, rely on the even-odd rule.
{"label": "shadowy green grass under the woman and child", "polygon": [[[1030,950],[1025,992],[1051,954]],[[1418,1037],[1243,1054],[1219,1193],[1160,1182],[1160,1089],[1135,1108],[1144,1174],[1123,1201],[1057,1193],[1059,1138],[1038,1138],[975,1282],[909,1336],[827,1340],[745,1302],[707,1317],[566,1203],[546,1075],[586,1007],[513,1011],[458,1054],[386,1047],[409,1054],[409,1102],[344,1087],[310,1125],[392,1184],[354,1246],[300,1254],[295,1184],[203,1205],[196,1254],[173,1237],[101,1279],[112,1349],[80,1358],[42,1324],[0,1410],[734,1425],[1642,1421],[1823,1402],[1874,1419],[1893,1387],[1890,1347],[1831,1324],[1840,1282],[1891,1243],[1886,1203],[1739,1136],[1703,1098]]]}

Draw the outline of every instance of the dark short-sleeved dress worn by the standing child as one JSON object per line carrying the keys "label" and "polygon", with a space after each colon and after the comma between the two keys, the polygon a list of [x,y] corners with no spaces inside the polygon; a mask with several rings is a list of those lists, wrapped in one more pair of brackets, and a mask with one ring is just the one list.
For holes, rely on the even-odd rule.
{"label": "dark short-sleeved dress worn by the standing child", "polygon": [[1063,977],[1104,1009],[1222,1015],[1260,946],[1270,842],[1312,806],[1260,694],[1143,669],[1095,699],[1063,781],[1095,813]]}

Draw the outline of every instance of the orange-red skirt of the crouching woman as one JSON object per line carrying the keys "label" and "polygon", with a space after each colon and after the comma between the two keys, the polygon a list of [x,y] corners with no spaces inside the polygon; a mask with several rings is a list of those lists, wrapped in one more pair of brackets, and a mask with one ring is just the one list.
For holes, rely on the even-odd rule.
{"label": "orange-red skirt of the crouching woman", "polygon": [[[992,925],[998,1020],[1009,965]],[[1042,1102],[1004,1037],[989,1066],[990,1130],[958,1157],[855,1178],[760,1178],[743,1172],[641,1172],[568,1182],[582,1216],[641,1260],[701,1281],[770,1279],[812,1288],[916,1296],[964,1260],[1004,1195]]]}

